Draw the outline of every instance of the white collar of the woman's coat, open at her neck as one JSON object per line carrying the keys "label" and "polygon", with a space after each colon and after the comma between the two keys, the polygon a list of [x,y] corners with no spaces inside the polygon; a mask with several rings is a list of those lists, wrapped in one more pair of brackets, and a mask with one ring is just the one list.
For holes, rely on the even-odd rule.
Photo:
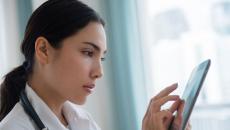
{"label": "white collar of the woman's coat, open at her neck", "polygon": [[66,128],[28,84],[25,91],[41,121],[49,130],[100,130],[88,112],[69,101],[66,101],[62,108],[69,124],[69,128]]}

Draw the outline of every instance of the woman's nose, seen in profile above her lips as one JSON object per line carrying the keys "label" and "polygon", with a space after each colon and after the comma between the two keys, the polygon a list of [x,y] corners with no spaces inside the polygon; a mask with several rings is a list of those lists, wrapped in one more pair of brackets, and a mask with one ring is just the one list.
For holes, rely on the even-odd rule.
{"label": "woman's nose, seen in profile above her lips", "polygon": [[102,76],[103,76],[103,68],[101,62],[95,63],[91,71],[91,77],[93,79],[98,79],[101,78]]}

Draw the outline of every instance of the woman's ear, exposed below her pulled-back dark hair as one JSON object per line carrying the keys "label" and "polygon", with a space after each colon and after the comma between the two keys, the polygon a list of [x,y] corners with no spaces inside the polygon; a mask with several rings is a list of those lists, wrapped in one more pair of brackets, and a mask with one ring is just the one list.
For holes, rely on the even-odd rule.
{"label": "woman's ear, exposed below her pulled-back dark hair", "polygon": [[40,64],[47,64],[49,62],[49,51],[51,46],[45,37],[38,37],[35,41],[35,57]]}

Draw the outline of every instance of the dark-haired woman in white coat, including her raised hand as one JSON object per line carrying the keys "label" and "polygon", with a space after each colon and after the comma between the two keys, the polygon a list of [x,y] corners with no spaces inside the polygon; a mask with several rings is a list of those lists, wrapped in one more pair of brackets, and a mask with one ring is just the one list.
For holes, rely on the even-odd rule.
{"label": "dark-haired woman in white coat, including her raised hand", "polygon": [[[21,46],[25,62],[1,84],[1,130],[100,129],[89,113],[75,104],[85,103],[95,81],[103,75],[103,26],[95,11],[77,0],[49,0],[32,14]],[[176,86],[152,99],[142,130],[168,129],[174,111],[179,113],[175,130],[179,129],[183,105],[179,107],[178,96],[169,96]],[[161,111],[168,101],[175,103]]]}

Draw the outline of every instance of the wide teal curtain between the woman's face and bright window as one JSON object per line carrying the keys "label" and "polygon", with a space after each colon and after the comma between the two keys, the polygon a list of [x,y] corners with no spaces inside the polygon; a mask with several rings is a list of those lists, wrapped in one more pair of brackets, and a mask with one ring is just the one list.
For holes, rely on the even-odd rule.
{"label": "wide teal curtain between the woman's face and bright window", "polygon": [[137,1],[108,0],[106,28],[111,55],[117,130],[140,130],[147,104]]}

